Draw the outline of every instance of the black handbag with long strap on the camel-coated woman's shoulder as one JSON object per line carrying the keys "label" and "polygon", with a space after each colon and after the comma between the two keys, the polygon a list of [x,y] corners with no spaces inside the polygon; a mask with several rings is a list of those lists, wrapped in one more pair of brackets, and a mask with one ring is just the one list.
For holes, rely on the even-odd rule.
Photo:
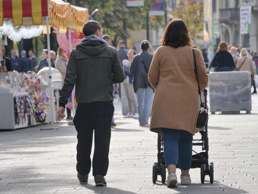
{"label": "black handbag with long strap on the camel-coated woman's shoulder", "polygon": [[196,65],[195,53],[194,53],[193,48],[192,48],[192,51],[193,51],[193,57],[194,57],[194,66],[195,66],[195,73],[196,73],[196,79],[197,79],[197,84],[198,84],[198,91],[200,94],[200,111],[198,114],[196,128],[202,129],[206,126],[209,115],[208,115],[208,110],[205,109],[205,107],[204,107],[204,102],[202,102],[202,100],[201,100],[202,98],[201,98],[201,91],[200,91],[200,83],[199,83],[199,79],[198,79],[197,65]]}

